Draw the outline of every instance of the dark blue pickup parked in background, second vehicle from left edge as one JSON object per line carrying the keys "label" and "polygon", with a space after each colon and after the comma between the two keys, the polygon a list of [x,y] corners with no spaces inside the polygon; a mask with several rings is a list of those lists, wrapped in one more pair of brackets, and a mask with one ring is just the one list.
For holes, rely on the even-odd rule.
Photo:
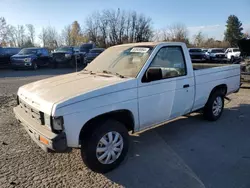
{"label": "dark blue pickup parked in background, second vehicle from left edge", "polygon": [[46,48],[23,48],[10,60],[13,69],[29,68],[36,70],[38,67],[50,64],[49,51]]}

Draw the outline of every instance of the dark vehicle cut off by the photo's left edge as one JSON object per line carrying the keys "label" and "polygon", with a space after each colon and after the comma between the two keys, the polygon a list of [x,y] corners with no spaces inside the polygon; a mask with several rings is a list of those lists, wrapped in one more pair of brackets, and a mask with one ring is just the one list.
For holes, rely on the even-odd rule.
{"label": "dark vehicle cut off by the photo's left edge", "polygon": [[18,54],[21,48],[1,48],[0,47],[0,67],[10,66],[10,57]]}

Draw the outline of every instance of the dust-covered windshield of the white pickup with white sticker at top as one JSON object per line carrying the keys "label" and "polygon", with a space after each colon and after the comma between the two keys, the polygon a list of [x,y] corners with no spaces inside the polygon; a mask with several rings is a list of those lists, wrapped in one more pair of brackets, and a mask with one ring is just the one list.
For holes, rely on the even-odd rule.
{"label": "dust-covered windshield of the white pickup with white sticker at top", "polygon": [[108,48],[95,58],[85,70],[136,77],[149,58],[152,46],[123,45]]}

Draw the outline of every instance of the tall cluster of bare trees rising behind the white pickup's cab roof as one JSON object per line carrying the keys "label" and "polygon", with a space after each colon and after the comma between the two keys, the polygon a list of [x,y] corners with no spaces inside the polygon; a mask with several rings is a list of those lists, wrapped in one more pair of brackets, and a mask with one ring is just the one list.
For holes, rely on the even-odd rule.
{"label": "tall cluster of bare trees rising behind the white pickup's cab roof", "polygon": [[151,19],[135,11],[118,9],[95,12],[86,19],[85,25],[89,39],[104,47],[149,41],[153,35]]}

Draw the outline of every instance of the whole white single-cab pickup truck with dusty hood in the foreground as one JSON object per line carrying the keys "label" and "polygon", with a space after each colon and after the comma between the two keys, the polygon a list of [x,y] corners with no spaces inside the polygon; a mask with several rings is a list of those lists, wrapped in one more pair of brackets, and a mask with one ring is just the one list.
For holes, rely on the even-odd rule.
{"label": "whole white single-cab pickup truck with dusty hood in the foreground", "polygon": [[85,164],[105,173],[126,156],[129,131],[197,110],[215,121],[239,88],[240,65],[193,65],[184,43],[124,44],[80,72],[20,87],[14,113],[45,151],[81,148]]}

